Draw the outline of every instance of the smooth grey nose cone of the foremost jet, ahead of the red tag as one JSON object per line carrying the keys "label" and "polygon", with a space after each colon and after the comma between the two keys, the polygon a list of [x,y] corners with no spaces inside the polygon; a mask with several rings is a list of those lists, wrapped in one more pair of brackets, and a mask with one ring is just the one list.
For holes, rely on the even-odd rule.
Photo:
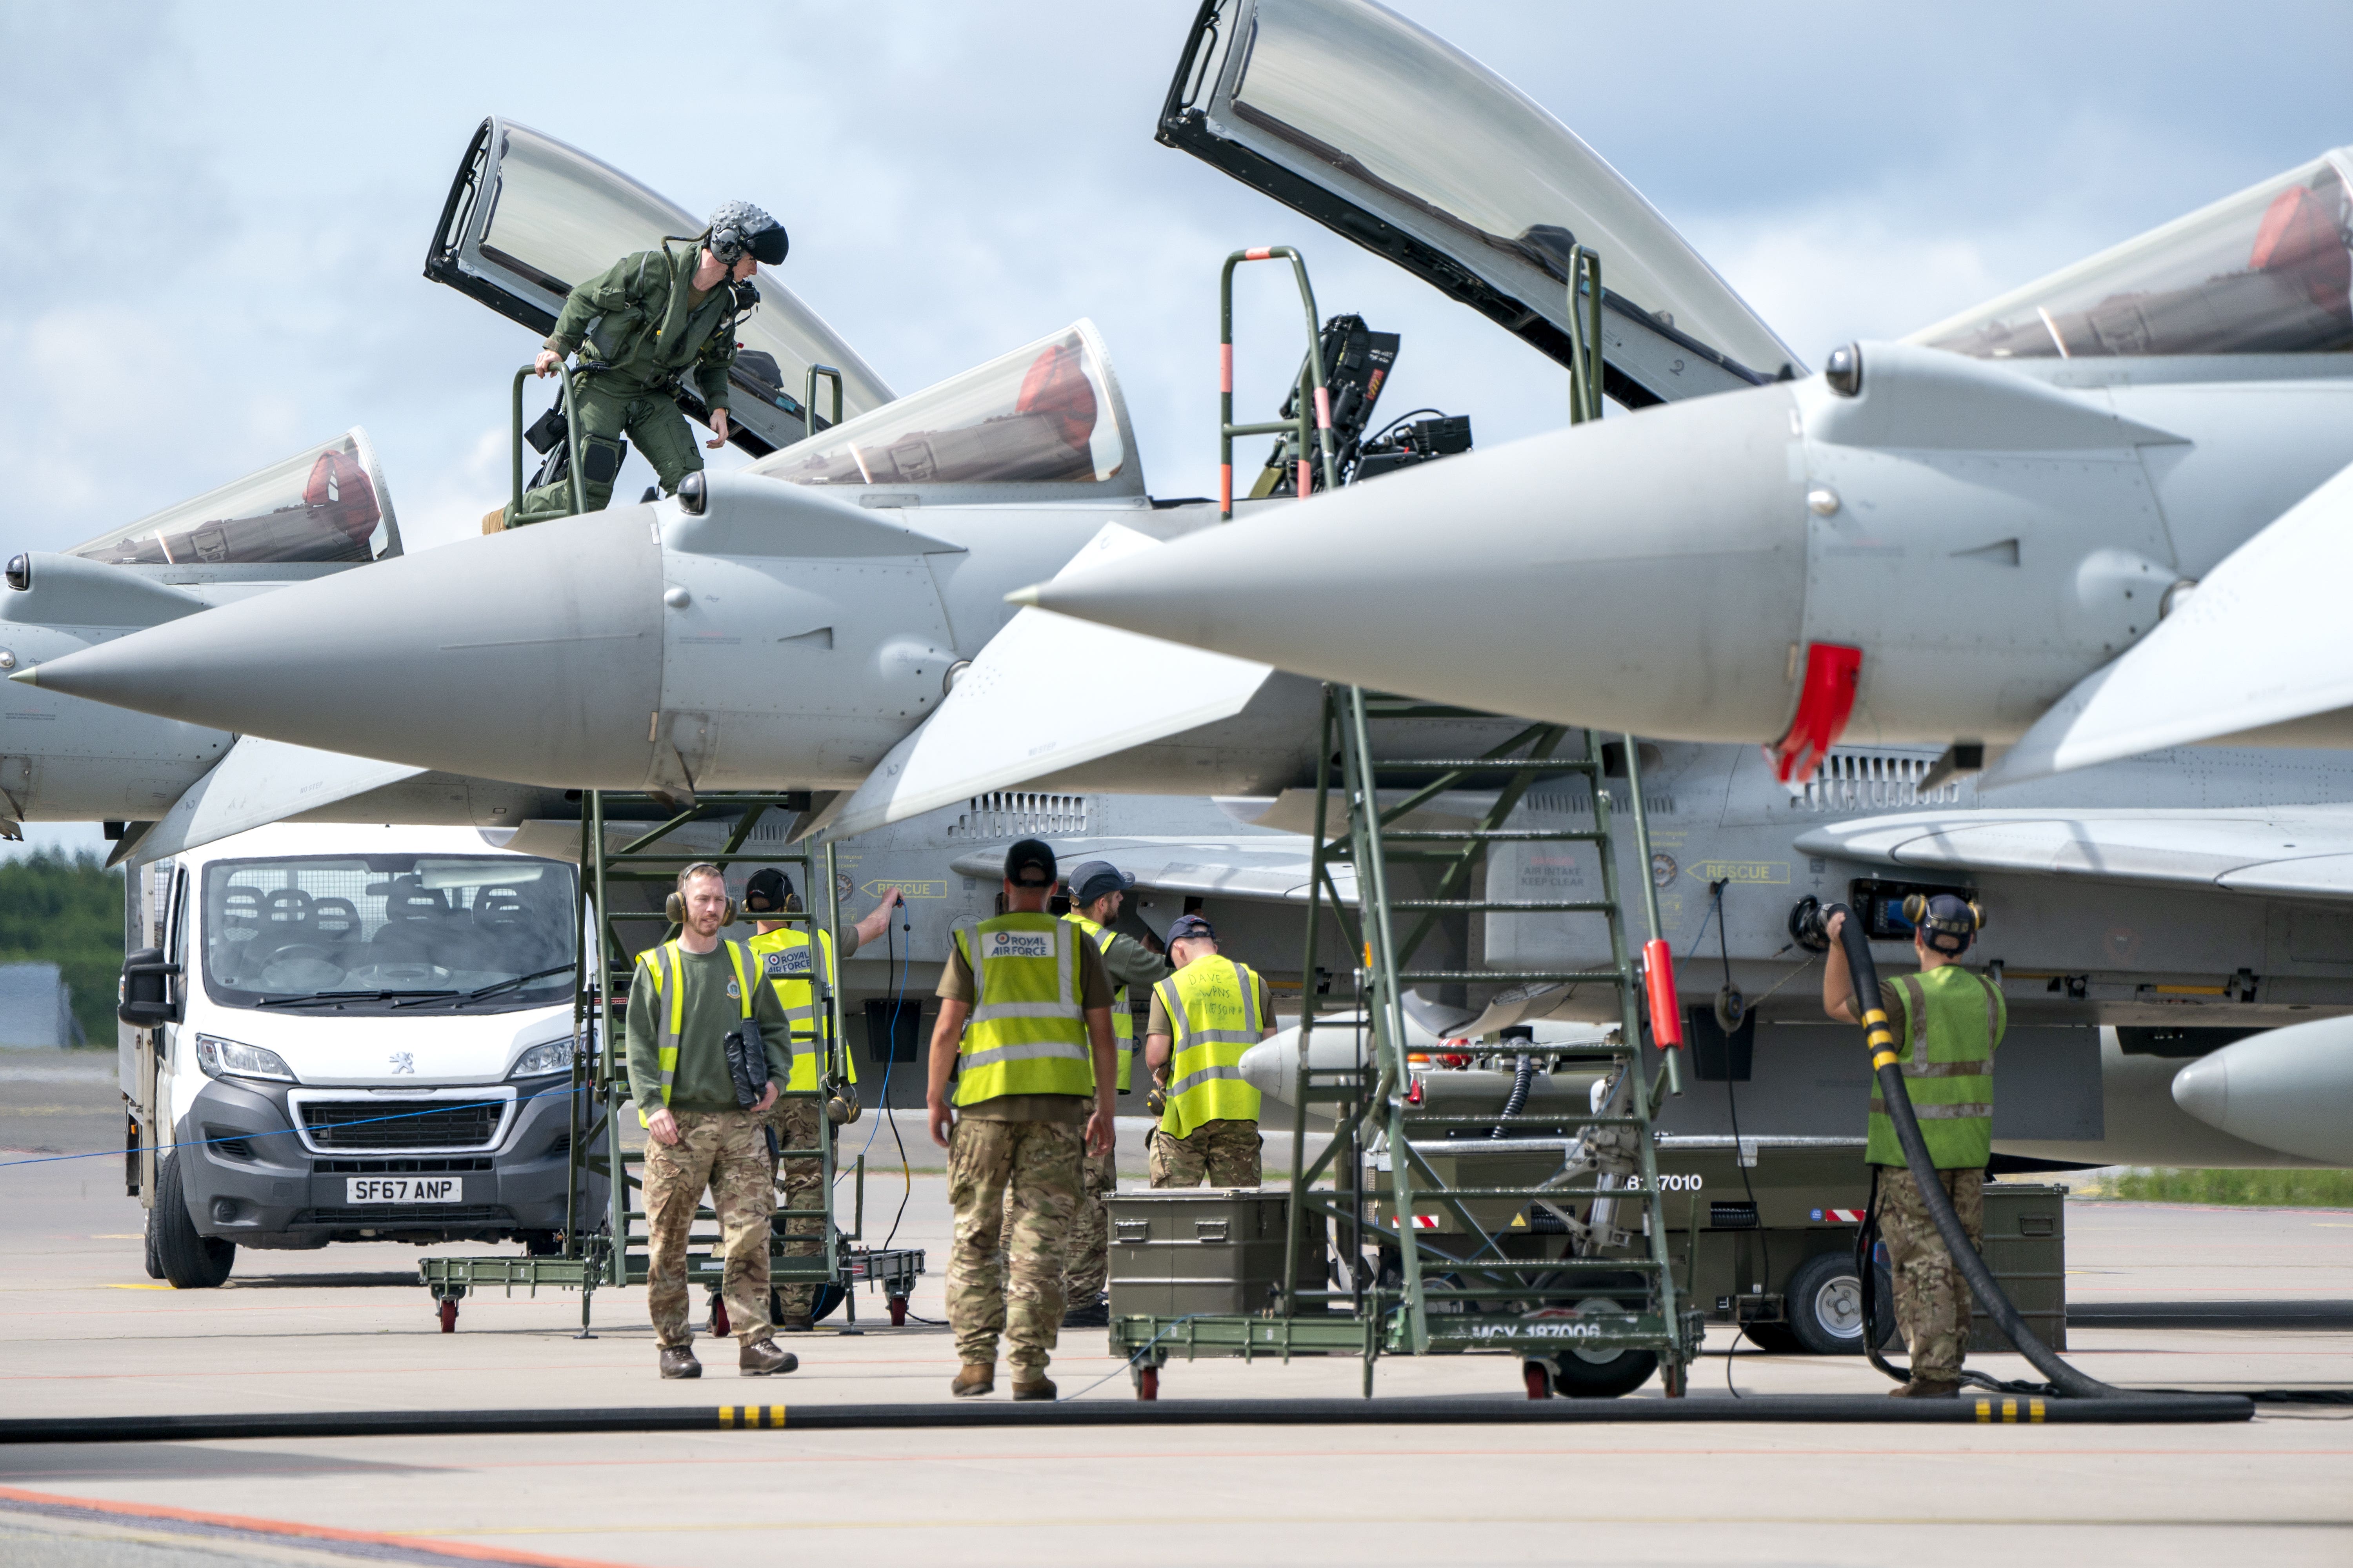
{"label": "smooth grey nose cone of the foremost jet, ahead of the red tag", "polygon": [[1555,430],[1016,599],[1417,698],[1680,741],[1795,701],[1805,461],[1767,386]]}

